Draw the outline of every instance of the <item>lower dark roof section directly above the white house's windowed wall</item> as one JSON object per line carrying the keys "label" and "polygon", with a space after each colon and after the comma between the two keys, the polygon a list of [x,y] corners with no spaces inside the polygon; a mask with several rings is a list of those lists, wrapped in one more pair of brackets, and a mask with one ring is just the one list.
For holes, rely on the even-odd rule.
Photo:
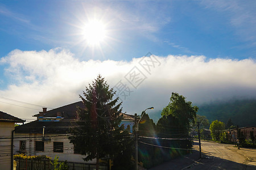
{"label": "lower dark roof section directly above the white house's windowed wall", "polygon": [[[71,120],[72,121],[72,120]],[[67,133],[71,121],[32,121],[28,124],[15,127],[15,133],[40,133],[43,134],[43,126],[45,134],[65,134]]]}

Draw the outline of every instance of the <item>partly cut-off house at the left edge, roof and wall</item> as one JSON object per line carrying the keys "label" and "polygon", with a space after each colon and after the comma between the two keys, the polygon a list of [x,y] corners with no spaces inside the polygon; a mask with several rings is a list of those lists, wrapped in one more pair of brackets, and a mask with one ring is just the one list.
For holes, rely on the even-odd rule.
{"label": "partly cut-off house at the left edge, roof and wall", "polygon": [[5,112],[0,111],[0,165],[1,169],[11,169],[12,157],[11,143],[12,132],[14,130],[15,123],[23,123],[18,117],[11,116]]}

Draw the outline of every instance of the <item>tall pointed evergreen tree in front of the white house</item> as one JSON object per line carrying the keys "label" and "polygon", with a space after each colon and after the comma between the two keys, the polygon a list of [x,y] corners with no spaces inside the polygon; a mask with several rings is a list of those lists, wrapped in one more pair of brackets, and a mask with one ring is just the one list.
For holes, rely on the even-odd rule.
{"label": "tall pointed evergreen tree in front of the white house", "polygon": [[97,160],[98,169],[99,159],[121,152],[122,140],[128,132],[119,127],[121,103],[117,104],[118,98],[113,99],[115,92],[101,75],[86,87],[83,94],[80,98],[85,108],[78,108],[69,139],[76,149],[79,148],[80,154],[85,155],[84,160]]}

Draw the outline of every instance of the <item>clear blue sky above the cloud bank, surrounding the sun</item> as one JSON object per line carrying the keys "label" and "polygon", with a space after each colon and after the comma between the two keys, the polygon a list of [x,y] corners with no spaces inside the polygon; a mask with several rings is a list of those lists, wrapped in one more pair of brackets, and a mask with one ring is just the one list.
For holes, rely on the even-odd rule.
{"label": "clear blue sky above the cloud bank, surrounding the sun", "polygon": [[[67,48],[80,59],[156,55],[255,56],[255,1],[26,1],[0,3],[4,57],[14,49]],[[114,40],[103,54],[79,42],[77,27],[104,18]]]}

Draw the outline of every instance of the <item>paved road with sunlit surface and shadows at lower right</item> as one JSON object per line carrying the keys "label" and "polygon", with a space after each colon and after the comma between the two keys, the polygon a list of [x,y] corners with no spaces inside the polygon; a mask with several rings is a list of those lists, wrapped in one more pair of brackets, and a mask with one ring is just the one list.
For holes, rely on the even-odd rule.
{"label": "paved road with sunlit surface and shadows at lower right", "polygon": [[[195,148],[199,148],[195,141]],[[201,142],[203,158],[189,169],[255,169],[256,149],[214,142]]]}

